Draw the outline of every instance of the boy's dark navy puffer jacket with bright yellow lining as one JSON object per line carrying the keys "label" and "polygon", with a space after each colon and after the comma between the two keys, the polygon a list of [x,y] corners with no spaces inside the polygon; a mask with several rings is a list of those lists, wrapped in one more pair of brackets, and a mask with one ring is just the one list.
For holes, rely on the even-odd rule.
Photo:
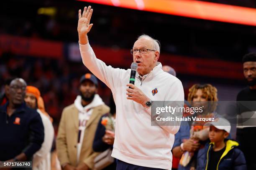
{"label": "boy's dark navy puffer jacket with bright yellow lining", "polygon": [[[198,151],[197,170],[207,170],[213,145],[214,143],[207,143],[205,148]],[[226,149],[220,157],[217,170],[247,170],[246,160],[243,152],[237,148],[238,145],[234,140],[226,140]]]}

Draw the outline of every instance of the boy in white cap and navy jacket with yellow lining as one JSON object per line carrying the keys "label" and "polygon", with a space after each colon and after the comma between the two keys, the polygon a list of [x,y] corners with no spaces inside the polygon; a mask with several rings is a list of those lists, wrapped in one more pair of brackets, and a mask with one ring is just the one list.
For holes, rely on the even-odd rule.
{"label": "boy in white cap and navy jacket with yellow lining", "polygon": [[247,170],[238,142],[226,139],[230,133],[228,120],[217,118],[206,125],[210,125],[211,142],[198,151],[196,170]]}

